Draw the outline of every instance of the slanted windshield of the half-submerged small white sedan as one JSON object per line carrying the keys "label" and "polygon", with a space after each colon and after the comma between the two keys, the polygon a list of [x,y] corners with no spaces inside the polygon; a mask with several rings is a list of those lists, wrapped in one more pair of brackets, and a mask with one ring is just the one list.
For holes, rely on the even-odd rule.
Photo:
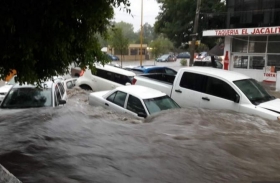
{"label": "slanted windshield of the half-submerged small white sedan", "polygon": [[150,114],[167,109],[180,108],[180,106],[167,95],[158,98],[144,99],[144,103]]}

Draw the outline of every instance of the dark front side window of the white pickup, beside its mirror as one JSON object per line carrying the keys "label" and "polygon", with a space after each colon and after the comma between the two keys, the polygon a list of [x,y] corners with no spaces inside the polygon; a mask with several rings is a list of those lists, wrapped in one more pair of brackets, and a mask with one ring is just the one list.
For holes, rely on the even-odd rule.
{"label": "dark front side window of the white pickup, beside its mirror", "polygon": [[231,101],[234,101],[237,94],[236,91],[229,84],[213,77],[208,77],[206,93]]}

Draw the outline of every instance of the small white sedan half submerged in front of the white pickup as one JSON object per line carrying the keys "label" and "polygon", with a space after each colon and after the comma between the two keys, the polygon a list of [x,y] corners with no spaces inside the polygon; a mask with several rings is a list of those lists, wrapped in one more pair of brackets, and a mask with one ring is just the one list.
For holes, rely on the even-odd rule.
{"label": "small white sedan half submerged in front of the white pickup", "polygon": [[163,110],[180,108],[165,93],[136,85],[93,92],[89,95],[89,104],[143,118]]}

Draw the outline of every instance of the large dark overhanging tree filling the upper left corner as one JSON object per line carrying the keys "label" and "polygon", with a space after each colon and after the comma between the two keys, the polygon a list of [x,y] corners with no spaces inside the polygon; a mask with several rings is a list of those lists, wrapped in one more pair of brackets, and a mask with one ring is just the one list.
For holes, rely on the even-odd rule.
{"label": "large dark overhanging tree filling the upper left corner", "polygon": [[96,33],[107,35],[114,7],[130,13],[129,0],[2,0],[0,76],[11,69],[20,82],[40,82],[103,60]]}

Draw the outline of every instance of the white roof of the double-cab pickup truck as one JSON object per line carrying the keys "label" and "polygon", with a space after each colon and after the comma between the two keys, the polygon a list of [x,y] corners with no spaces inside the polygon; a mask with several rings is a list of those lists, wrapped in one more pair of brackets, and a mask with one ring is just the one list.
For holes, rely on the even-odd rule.
{"label": "white roof of the double-cab pickup truck", "polygon": [[190,71],[193,73],[198,74],[205,74],[209,76],[215,76],[218,78],[224,78],[228,81],[236,81],[236,80],[242,80],[242,79],[250,79],[250,77],[240,74],[233,71],[223,70],[223,69],[216,69],[211,67],[188,67],[188,68],[182,68],[183,71]]}

